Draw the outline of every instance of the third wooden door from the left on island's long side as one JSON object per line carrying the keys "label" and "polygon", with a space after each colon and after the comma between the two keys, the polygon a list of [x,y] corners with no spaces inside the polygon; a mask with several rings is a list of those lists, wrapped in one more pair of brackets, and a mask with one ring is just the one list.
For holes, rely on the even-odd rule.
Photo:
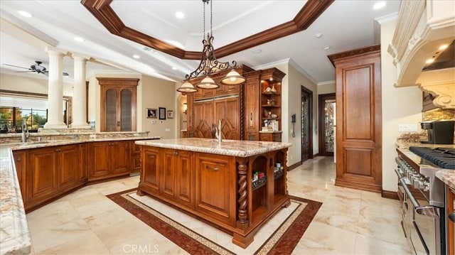
{"label": "third wooden door from the left on island's long side", "polygon": [[[177,151],[176,155],[176,199],[182,205],[194,205],[194,169],[193,153],[191,151]],[[167,168],[164,168],[167,169]]]}

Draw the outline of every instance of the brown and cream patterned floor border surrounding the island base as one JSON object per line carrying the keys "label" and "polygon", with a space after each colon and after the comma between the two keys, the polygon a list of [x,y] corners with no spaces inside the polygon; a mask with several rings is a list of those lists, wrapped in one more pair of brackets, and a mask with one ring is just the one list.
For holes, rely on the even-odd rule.
{"label": "brown and cream patterned floor border surrounding the island base", "polygon": [[218,244],[217,240],[182,223],[181,219],[173,219],[175,213],[169,213],[172,209],[168,205],[149,196],[139,197],[136,189],[107,197],[189,254],[291,254],[322,205],[321,202],[290,196],[291,206],[280,210],[264,224],[255,234],[255,242],[242,249],[235,244]]}

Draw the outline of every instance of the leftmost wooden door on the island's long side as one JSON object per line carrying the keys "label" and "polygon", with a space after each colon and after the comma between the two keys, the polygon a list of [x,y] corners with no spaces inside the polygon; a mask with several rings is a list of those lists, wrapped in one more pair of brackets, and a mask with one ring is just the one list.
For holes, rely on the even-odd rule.
{"label": "leftmost wooden door on the island's long side", "polygon": [[141,187],[147,192],[159,194],[159,149],[142,146]]}

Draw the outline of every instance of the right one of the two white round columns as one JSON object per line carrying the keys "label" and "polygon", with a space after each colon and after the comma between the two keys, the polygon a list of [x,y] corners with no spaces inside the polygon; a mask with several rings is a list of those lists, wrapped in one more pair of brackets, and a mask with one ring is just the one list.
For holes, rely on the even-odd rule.
{"label": "right one of the two white round columns", "polygon": [[87,124],[87,89],[85,87],[85,65],[90,57],[73,53],[74,89],[73,89],[73,129],[90,129]]}

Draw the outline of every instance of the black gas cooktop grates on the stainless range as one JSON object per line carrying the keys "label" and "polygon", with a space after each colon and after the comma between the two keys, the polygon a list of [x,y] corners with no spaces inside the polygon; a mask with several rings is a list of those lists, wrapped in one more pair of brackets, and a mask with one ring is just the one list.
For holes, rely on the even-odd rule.
{"label": "black gas cooktop grates on the stainless range", "polygon": [[455,170],[455,149],[453,148],[410,147],[410,151],[439,168]]}

